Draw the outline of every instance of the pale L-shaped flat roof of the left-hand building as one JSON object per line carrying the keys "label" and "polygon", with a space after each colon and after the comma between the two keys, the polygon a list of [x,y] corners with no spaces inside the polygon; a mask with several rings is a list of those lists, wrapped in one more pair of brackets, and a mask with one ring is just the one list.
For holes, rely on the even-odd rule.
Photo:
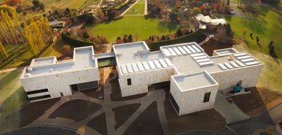
{"label": "pale L-shaped flat roof of the left-hand building", "polygon": [[30,67],[25,68],[21,78],[84,70],[88,68],[96,68],[96,66],[92,46],[80,47],[74,49],[73,60],[59,63],[49,63],[48,65],[41,66],[30,65]]}

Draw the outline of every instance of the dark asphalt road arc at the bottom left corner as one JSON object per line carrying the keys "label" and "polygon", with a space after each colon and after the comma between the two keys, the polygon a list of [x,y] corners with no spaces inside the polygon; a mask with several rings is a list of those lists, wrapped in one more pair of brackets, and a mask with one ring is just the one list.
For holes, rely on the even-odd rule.
{"label": "dark asphalt road arc at the bottom left corner", "polygon": [[1,133],[0,135],[82,135],[73,129],[54,126],[25,127]]}

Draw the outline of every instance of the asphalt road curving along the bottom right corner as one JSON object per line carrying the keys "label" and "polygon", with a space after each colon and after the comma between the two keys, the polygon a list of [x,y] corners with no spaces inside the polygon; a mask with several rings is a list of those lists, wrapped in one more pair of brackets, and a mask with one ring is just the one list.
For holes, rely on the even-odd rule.
{"label": "asphalt road curving along the bottom right corner", "polygon": [[228,127],[219,132],[208,133],[206,131],[197,131],[193,133],[186,134],[197,134],[197,135],[233,135],[233,134],[252,134],[255,129],[266,129],[270,125],[275,126],[275,124],[282,120],[282,104],[272,108],[271,110],[259,115],[257,117],[252,117],[249,120],[244,120],[241,122],[235,122],[233,124],[228,124]]}

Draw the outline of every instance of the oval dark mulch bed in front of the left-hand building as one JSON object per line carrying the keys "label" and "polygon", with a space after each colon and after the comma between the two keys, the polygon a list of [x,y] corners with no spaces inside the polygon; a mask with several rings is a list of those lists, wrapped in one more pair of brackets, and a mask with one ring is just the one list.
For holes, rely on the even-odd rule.
{"label": "oval dark mulch bed in front of the left-hand building", "polygon": [[101,108],[102,105],[97,103],[75,99],[73,101],[63,103],[60,108],[51,113],[49,118],[54,119],[56,117],[64,117],[78,122],[85,119],[88,115],[92,115],[93,113],[97,112],[97,110]]}

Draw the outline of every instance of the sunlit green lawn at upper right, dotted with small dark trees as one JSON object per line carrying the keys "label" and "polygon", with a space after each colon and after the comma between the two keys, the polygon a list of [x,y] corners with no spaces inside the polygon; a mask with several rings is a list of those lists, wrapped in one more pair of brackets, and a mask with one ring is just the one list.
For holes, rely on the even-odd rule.
{"label": "sunlit green lawn at upper right, dotted with small dark trees", "polygon": [[[252,19],[226,17],[226,21],[231,24],[235,36],[243,37],[250,49],[269,54],[268,45],[270,41],[274,41],[274,51],[278,58],[281,59],[282,25],[278,21],[278,18],[281,18],[281,15],[266,7],[260,8],[259,13],[261,13],[261,15]],[[245,37],[243,36],[244,30],[247,30]],[[253,34],[252,37],[254,40],[250,38],[250,33]],[[262,50],[260,50],[259,45],[256,42],[257,36],[259,37],[259,44],[262,45]]]}

